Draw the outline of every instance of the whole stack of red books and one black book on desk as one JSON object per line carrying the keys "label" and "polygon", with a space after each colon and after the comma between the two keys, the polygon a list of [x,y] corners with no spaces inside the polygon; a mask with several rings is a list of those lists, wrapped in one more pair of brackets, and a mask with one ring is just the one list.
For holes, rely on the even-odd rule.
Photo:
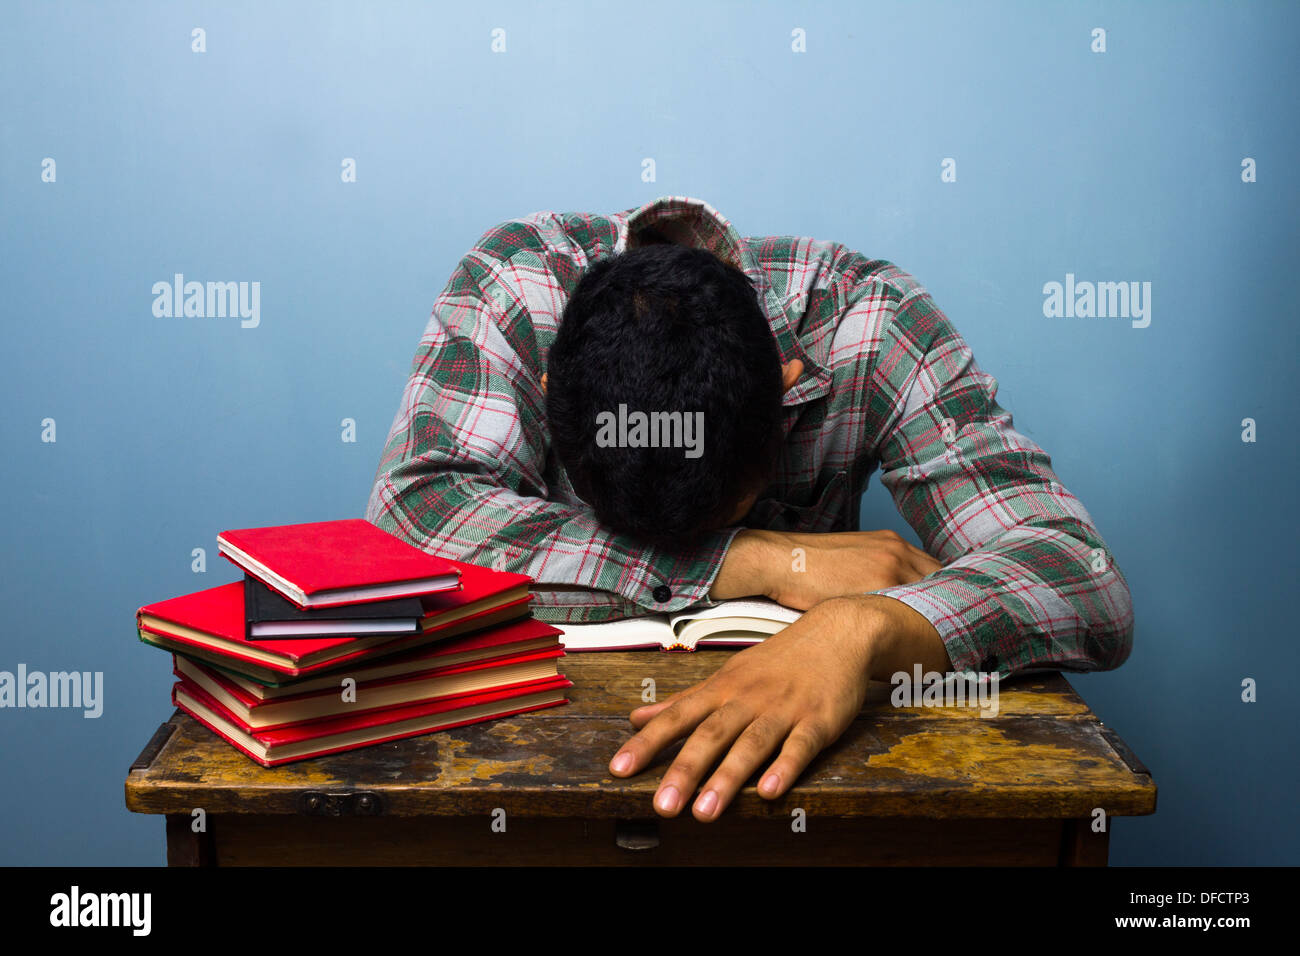
{"label": "whole stack of red books and one black book on desk", "polygon": [[172,700],[263,766],[567,701],[526,575],[425,554],[361,519],[226,531],[243,580],[146,605]]}

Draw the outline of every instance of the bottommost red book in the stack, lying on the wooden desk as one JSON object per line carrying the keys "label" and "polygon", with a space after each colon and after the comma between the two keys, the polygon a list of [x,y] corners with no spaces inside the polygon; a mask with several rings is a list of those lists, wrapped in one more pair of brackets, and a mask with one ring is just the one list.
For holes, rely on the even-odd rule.
{"label": "bottommost red book in the stack, lying on the wooden desk", "polygon": [[412,704],[390,710],[337,717],[309,724],[259,731],[242,726],[207,691],[187,680],[172,688],[172,702],[204,727],[224,737],[263,766],[352,750],[400,737],[463,727],[468,723],[523,714],[566,704],[572,680],[558,676],[542,685],[514,691],[489,691],[468,697]]}

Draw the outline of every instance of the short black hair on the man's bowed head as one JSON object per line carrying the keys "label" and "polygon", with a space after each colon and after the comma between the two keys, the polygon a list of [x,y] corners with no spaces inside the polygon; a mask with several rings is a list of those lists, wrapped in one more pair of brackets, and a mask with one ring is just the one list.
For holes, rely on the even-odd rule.
{"label": "short black hair on the man's bowed head", "polygon": [[[546,416],[573,490],[602,524],[681,545],[772,480],[781,358],[753,281],[702,248],[650,245],[593,263],[547,358]],[[602,447],[598,416],[703,412],[681,447]],[[606,421],[608,421],[608,415]]]}

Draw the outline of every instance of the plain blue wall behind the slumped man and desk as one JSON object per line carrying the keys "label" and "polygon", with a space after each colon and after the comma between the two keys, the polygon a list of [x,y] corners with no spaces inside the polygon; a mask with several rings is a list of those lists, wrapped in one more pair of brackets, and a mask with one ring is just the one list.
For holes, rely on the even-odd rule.
{"label": "plain blue wall behind the slumped man and desk", "polygon": [[[135,609],[235,580],[224,528],[363,512],[488,226],[667,194],[915,274],[1087,505],[1138,624],[1074,682],[1160,786],[1113,862],[1297,862],[1300,8],[467,7],[6,4],[0,670],[101,670],[105,710],[0,710],[0,862],[162,862],[122,796],[170,713]],[[153,317],[176,272],[260,281],[260,328]],[[1150,326],[1045,319],[1066,272],[1150,281]],[[875,481],[863,527],[907,531]]]}

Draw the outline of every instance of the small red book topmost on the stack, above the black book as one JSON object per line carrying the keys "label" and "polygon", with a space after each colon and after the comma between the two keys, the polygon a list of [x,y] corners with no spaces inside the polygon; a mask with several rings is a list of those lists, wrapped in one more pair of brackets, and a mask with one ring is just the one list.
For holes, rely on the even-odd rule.
{"label": "small red book topmost on the stack, above the black book", "polygon": [[222,531],[217,549],[295,605],[337,607],[456,588],[456,567],[363,518]]}

